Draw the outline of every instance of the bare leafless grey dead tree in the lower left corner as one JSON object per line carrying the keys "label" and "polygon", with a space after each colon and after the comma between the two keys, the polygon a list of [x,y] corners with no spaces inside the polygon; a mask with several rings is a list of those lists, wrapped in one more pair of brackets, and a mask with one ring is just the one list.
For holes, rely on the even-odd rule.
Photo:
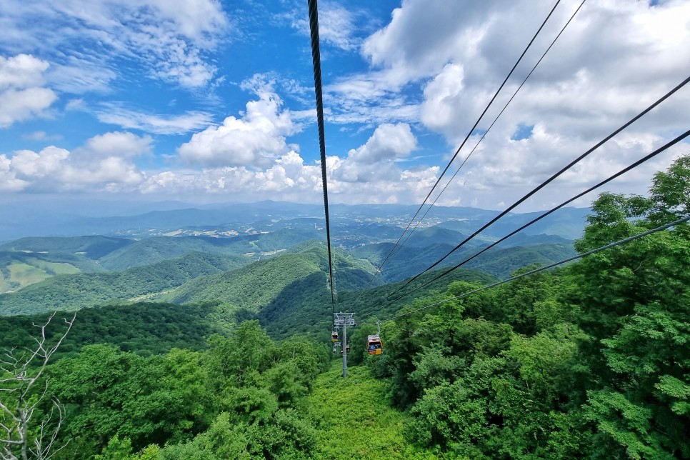
{"label": "bare leafless grey dead tree in the lower left corner", "polygon": [[6,349],[0,357],[0,454],[2,460],[48,460],[62,447],[56,439],[64,417],[64,407],[54,399],[50,413],[40,422],[32,421],[34,411],[46,396],[47,379],[41,376],[48,361],[69,334],[76,313],[71,320],[64,319],[66,330],[54,345],[46,343],[46,324],[39,328],[36,344],[26,349]]}

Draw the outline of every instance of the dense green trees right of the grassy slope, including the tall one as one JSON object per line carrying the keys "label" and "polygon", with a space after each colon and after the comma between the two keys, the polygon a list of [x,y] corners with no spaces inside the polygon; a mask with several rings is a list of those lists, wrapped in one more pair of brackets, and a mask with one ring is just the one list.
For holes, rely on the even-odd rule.
{"label": "dense green trees right of the grassy slope, including the tall one", "polygon": [[[649,198],[602,194],[576,249],[690,209],[690,158]],[[450,284],[412,311],[475,289]],[[384,363],[407,436],[471,458],[690,456],[690,227],[679,224],[564,269],[386,324]],[[381,365],[384,365],[381,367]],[[387,368],[387,369],[386,369]]]}

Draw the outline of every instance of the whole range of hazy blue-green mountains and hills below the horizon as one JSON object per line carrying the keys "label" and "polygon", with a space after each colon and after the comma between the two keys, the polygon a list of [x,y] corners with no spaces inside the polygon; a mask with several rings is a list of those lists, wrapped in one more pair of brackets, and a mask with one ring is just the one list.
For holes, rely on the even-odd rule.
{"label": "whole range of hazy blue-green mountains and hills below the horizon", "polygon": [[[153,301],[192,309],[212,306],[202,310],[215,315],[220,324],[259,319],[274,336],[327,328],[329,258],[320,206],[264,202],[243,214],[248,206],[166,209],[124,218],[81,216],[90,222],[82,230],[101,229],[103,234],[69,236],[69,226],[56,225],[54,233],[68,235],[25,236],[1,244],[0,315],[128,304],[146,309]],[[414,211],[414,206],[334,206],[332,308],[394,314],[401,305],[390,304],[386,296],[401,281],[428,269],[496,216],[495,211],[482,209],[434,209],[431,219],[395,246]],[[462,279],[488,284],[529,264],[571,256],[573,239],[581,234],[589,210],[561,211],[540,222],[538,229],[530,227],[439,282],[445,286]],[[419,281],[461,264],[533,218],[506,216]],[[406,301],[434,289],[434,284],[420,289]]]}

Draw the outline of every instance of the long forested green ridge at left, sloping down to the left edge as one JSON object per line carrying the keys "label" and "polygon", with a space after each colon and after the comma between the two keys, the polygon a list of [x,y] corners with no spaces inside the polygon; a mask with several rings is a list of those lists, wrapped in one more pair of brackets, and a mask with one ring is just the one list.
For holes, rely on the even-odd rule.
{"label": "long forested green ridge at left, sloping down to the left edge", "polygon": [[179,259],[119,273],[58,275],[11,294],[0,294],[0,315],[71,311],[108,302],[143,301],[189,279],[234,269],[247,262],[244,257],[191,252]]}

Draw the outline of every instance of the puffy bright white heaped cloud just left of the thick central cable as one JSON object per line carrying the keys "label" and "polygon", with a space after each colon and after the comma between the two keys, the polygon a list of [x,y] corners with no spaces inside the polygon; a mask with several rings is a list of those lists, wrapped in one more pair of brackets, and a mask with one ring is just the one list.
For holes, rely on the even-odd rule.
{"label": "puffy bright white heaped cloud just left of the thick central cable", "polygon": [[[251,86],[251,83],[247,83]],[[296,126],[270,85],[255,87],[259,100],[249,101],[241,118],[228,116],[223,124],[194,134],[179,148],[189,164],[202,166],[266,167],[290,149],[285,136]]]}

